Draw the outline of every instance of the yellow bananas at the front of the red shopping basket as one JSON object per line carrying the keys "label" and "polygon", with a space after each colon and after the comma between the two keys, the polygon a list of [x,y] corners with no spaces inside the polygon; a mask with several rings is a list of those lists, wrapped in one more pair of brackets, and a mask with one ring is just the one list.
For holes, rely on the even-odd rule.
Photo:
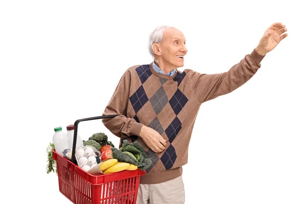
{"label": "yellow bananas at the front of the red shopping basket", "polygon": [[115,173],[123,170],[136,170],[138,167],[134,164],[118,162],[117,159],[108,159],[101,163],[100,171],[104,174]]}

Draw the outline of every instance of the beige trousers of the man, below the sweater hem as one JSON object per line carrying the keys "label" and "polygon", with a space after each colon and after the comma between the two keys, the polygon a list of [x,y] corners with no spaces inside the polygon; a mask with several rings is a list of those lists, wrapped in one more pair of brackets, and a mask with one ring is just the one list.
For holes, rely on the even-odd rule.
{"label": "beige trousers of the man, below the sweater hem", "polygon": [[140,184],[136,204],[183,204],[185,189],[182,175],[161,184]]}

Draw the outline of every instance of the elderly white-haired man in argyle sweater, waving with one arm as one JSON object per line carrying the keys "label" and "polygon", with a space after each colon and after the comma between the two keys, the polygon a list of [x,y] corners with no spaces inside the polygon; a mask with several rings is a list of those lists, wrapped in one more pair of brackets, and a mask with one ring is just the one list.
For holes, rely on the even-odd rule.
{"label": "elderly white-haired man in argyle sweater, waving with one arm", "polygon": [[[185,36],[172,27],[158,27],[149,36],[150,64],[128,68],[122,75],[103,115],[116,136],[138,141],[152,160],[141,176],[137,203],[184,203],[182,166],[202,103],[234,91],[261,67],[265,55],[287,37],[281,22],[273,23],[252,52],[228,71],[205,74],[185,69]],[[120,145],[121,145],[120,142]]]}

